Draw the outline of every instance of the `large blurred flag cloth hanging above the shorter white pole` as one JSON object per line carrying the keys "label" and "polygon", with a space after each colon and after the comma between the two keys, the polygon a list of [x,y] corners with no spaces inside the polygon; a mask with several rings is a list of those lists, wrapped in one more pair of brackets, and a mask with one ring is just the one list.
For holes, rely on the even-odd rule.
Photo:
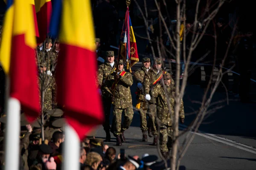
{"label": "large blurred flag cloth hanging above the shorter white pole", "polygon": [[[61,10],[58,9],[60,7]],[[52,18],[54,21],[50,26],[50,33],[58,32],[54,29],[58,30],[60,26],[61,51],[55,74],[57,101],[64,105],[67,123],[82,139],[104,121],[102,102],[94,80],[97,64],[91,5],[90,1],[62,0],[62,4],[56,4],[53,11],[62,14],[61,23]]]}

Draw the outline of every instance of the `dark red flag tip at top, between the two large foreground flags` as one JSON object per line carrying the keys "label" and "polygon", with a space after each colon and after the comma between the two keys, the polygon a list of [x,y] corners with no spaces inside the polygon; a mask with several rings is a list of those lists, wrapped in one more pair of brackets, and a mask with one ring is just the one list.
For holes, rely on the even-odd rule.
{"label": "dark red flag tip at top, between the two large foreground flags", "polygon": [[49,33],[49,24],[52,14],[52,2],[51,0],[35,0],[35,11],[38,20],[39,38],[37,38],[38,44],[44,42]]}

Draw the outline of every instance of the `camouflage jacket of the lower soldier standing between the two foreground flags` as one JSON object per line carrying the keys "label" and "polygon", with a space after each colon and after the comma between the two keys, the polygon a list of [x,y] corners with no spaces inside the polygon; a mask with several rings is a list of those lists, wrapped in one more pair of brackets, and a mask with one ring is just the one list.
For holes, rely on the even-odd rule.
{"label": "camouflage jacket of the lower soldier standing between the two foreground flags", "polygon": [[[42,75],[42,79],[44,79],[44,75]],[[49,85],[47,86],[48,79],[49,79]],[[40,103],[41,103],[41,88],[42,88],[42,81],[41,81],[41,78],[39,77]],[[56,102],[57,89],[56,89],[55,78],[52,76],[49,77],[47,75],[44,81],[44,88],[46,88],[44,93],[44,111],[49,111],[52,109],[52,105],[57,105],[57,102]]]}

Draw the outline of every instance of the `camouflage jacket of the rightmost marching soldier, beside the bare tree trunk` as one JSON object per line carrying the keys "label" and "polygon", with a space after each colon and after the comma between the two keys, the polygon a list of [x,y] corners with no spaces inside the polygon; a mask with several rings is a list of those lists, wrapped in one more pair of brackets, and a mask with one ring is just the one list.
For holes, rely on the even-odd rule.
{"label": "camouflage jacket of the rightmost marching soldier, beside the bare tree trunk", "polygon": [[[158,85],[159,86],[159,85]],[[175,109],[175,86],[174,81],[171,79],[171,85],[166,86],[166,93],[163,88],[159,88],[157,91],[157,117],[164,125],[172,126],[174,119],[174,109]],[[168,97],[168,98],[166,98]],[[167,102],[170,103],[170,109],[168,108]],[[180,118],[185,118],[184,116],[184,106],[183,100],[181,99],[180,104]]]}

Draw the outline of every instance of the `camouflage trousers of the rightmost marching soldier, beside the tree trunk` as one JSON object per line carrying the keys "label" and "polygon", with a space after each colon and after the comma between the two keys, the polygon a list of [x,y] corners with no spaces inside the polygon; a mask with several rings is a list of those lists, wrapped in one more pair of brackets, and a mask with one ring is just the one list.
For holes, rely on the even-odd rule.
{"label": "camouflage trousers of the rightmost marching soldier, beside the tree trunk", "polygon": [[159,145],[161,152],[168,152],[172,148],[173,126],[160,127]]}

